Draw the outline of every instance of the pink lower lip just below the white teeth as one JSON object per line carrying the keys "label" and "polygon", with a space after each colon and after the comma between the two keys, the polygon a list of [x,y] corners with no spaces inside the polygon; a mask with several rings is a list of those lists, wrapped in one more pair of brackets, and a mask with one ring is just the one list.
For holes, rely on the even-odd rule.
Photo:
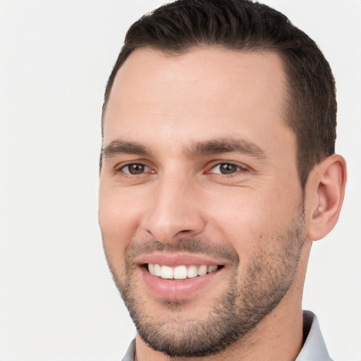
{"label": "pink lower lip just below the white teeth", "polygon": [[149,290],[157,297],[166,298],[167,300],[185,300],[211,283],[214,276],[219,274],[220,271],[219,269],[210,274],[193,277],[192,279],[176,280],[152,276],[145,267],[142,267],[142,276]]}

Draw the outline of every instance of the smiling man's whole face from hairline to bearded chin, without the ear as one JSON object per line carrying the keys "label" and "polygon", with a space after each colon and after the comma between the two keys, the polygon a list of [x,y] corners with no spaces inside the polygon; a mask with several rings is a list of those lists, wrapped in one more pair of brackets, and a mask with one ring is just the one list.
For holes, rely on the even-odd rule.
{"label": "smiling man's whole face from hairline to bearded chin, without the ear", "polygon": [[305,230],[285,101],[270,52],[138,49],[118,71],[99,224],[137,331],[155,350],[217,353],[292,285]]}

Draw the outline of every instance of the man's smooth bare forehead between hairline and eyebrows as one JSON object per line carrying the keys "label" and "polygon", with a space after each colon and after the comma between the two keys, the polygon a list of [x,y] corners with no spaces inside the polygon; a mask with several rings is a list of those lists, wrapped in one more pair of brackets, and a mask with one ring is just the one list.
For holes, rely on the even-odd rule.
{"label": "man's smooth bare forehead between hairline and eyebrows", "polygon": [[138,142],[152,136],[181,142],[235,134],[260,142],[262,136],[282,137],[280,132],[290,132],[285,97],[283,63],[270,51],[209,47],[167,55],[137,49],[116,75],[104,144],[117,137]]}

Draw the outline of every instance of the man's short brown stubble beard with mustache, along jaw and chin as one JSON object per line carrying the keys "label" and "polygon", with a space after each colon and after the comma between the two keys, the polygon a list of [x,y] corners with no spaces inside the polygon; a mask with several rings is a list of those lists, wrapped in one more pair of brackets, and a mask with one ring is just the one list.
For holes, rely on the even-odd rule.
{"label": "man's short brown stubble beard with mustache, along jaw and chin", "polygon": [[[187,318],[183,312],[187,301],[179,300],[164,300],[163,307],[171,312],[154,314],[147,308],[147,300],[137,293],[135,272],[126,267],[126,275],[121,280],[111,262],[109,268],[138,334],[150,348],[169,357],[204,357],[221,353],[241,341],[279,304],[293,283],[305,243],[304,233],[305,213],[301,204],[288,231],[264,240],[276,244],[276,250],[259,249],[240,276],[238,267],[241,261],[231,248],[195,239],[182,239],[173,245],[152,240],[142,245],[142,250],[157,247],[158,250],[171,248],[173,251],[199,253],[201,248],[207,253],[227,255],[230,281],[224,294],[214,302],[207,319]],[[133,251],[126,254],[126,266],[133,258]]]}

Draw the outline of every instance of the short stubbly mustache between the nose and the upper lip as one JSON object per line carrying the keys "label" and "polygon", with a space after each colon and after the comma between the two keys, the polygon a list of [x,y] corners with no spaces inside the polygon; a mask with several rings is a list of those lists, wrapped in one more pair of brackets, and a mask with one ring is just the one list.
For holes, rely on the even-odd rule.
{"label": "short stubbly mustache between the nose and the upper lip", "polygon": [[229,245],[219,245],[205,239],[180,238],[173,243],[162,243],[159,240],[130,243],[126,249],[126,262],[131,262],[135,257],[149,255],[153,252],[188,252],[226,259],[235,264],[240,261],[238,253]]}

